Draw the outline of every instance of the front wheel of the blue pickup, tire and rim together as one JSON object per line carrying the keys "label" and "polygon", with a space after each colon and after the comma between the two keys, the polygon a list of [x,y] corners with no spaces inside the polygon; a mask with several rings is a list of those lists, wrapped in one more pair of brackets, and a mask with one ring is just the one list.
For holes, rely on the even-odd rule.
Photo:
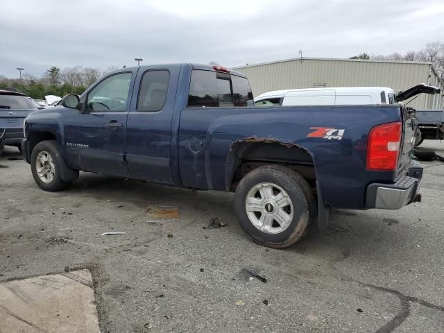
{"label": "front wheel of the blue pickup, tire and rim together", "polygon": [[35,145],[31,154],[31,171],[37,185],[45,191],[60,191],[69,183],[63,182],[60,173],[62,156],[53,141],[42,141]]}

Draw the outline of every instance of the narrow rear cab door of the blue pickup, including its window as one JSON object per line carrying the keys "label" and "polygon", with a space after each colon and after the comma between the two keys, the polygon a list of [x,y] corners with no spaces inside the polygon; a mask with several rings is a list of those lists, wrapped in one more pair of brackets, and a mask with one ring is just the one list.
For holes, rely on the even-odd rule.
{"label": "narrow rear cab door of the blue pickup, including its window", "polygon": [[180,65],[144,67],[135,81],[126,124],[126,160],[133,178],[173,184],[171,121]]}

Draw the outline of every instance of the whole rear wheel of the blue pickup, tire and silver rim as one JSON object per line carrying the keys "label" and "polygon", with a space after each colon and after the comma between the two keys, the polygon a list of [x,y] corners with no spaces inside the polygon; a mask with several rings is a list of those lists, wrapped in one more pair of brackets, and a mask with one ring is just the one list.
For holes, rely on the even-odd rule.
{"label": "whole rear wheel of the blue pickup, tire and silver rim", "polygon": [[286,248],[304,237],[316,216],[313,191],[296,171],[259,167],[241,179],[234,210],[244,231],[259,244]]}

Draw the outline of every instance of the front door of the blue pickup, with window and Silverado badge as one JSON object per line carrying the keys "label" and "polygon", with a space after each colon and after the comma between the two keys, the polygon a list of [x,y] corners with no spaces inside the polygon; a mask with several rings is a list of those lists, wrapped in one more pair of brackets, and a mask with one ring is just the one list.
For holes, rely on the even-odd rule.
{"label": "front door of the blue pickup, with window and Silverado badge", "polygon": [[[137,69],[136,69],[137,72]],[[67,111],[65,147],[69,162],[84,171],[129,176],[124,161],[126,117],[135,72],[112,74],[82,97],[83,112]]]}

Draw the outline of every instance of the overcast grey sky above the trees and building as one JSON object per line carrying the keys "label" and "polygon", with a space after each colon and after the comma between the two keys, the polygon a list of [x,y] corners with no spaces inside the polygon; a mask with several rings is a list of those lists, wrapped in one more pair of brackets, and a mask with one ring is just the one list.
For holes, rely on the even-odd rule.
{"label": "overcast grey sky above the trees and building", "polygon": [[443,0],[15,0],[1,3],[0,75],[16,67],[405,53],[444,42]]}

